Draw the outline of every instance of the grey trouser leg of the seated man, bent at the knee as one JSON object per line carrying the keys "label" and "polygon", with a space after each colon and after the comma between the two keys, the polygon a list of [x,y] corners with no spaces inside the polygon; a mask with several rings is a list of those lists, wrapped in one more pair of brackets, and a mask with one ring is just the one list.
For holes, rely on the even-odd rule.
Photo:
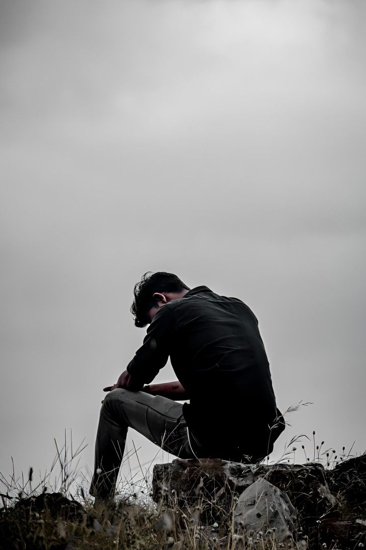
{"label": "grey trouser leg of the seated man, bent at the knee", "polygon": [[194,458],[197,444],[188,432],[183,405],[145,392],[115,389],[104,399],[95,442],[93,496],[114,493],[125,450],[128,427],[142,433],[167,452],[181,458]]}

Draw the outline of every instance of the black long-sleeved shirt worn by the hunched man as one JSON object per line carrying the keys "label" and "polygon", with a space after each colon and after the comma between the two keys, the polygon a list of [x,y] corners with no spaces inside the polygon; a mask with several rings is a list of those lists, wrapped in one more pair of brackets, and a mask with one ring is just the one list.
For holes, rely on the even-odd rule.
{"label": "black long-sleeved shirt worn by the hunched man", "polygon": [[190,396],[187,425],[207,456],[267,455],[284,430],[254,313],[205,286],[156,313],[127,371],[149,384],[170,356]]}

